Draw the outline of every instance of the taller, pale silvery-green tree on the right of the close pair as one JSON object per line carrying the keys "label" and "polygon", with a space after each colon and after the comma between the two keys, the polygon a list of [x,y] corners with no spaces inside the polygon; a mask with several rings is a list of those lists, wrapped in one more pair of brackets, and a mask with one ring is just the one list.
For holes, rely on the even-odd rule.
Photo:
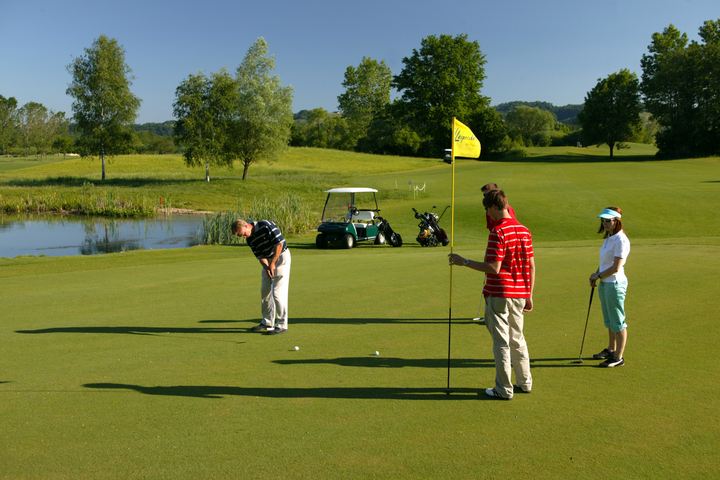
{"label": "taller, pale silvery-green tree on the right of the close pair", "polygon": [[235,76],[237,99],[226,147],[232,158],[242,162],[243,180],[250,165],[276,159],[290,141],[293,88],[284,87],[279,76],[271,75],[275,57],[267,54],[267,42],[260,37],[248,49]]}

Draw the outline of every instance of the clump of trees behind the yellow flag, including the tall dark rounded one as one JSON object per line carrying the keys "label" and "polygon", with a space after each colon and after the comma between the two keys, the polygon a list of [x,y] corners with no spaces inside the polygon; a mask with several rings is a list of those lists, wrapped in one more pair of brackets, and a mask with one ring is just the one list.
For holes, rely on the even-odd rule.
{"label": "clump of trees behind the yellow flag, including the tall dark rounded one", "polygon": [[[486,59],[477,41],[430,35],[402,63],[397,75],[384,60],[363,57],[349,66],[338,96],[342,115],[311,110],[293,127],[291,145],[443,158],[457,117],[478,137],[484,156],[502,148],[503,119],[481,94]],[[394,101],[391,89],[400,94]]]}

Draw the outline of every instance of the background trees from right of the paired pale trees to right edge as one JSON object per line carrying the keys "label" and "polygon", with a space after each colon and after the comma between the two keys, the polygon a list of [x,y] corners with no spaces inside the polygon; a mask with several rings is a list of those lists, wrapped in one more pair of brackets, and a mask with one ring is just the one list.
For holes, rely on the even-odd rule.
{"label": "background trees from right of the paired pale trees to right edge", "polygon": [[[429,36],[392,75],[363,57],[348,67],[341,115],[323,109],[296,119],[291,145],[441,157],[453,116],[480,139],[482,156],[523,147],[655,143],[659,157],[720,154],[720,23],[706,21],[700,42],[673,25],[652,35],[642,82],[622,69],[599,79],[582,105],[511,102],[495,108],[480,94],[485,56],[466,35]],[[401,97],[390,101],[390,89]]]}

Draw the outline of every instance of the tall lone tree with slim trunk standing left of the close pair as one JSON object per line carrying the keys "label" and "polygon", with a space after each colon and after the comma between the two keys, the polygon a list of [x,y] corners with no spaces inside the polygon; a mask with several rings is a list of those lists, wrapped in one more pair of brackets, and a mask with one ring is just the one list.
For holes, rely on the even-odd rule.
{"label": "tall lone tree with slim trunk standing left of the close pair", "polygon": [[66,93],[74,99],[78,153],[100,156],[105,180],[105,156],[123,153],[131,147],[130,126],[142,102],[130,92],[134,77],[125,63],[125,49],[116,39],[100,35],[67,70],[72,75]]}

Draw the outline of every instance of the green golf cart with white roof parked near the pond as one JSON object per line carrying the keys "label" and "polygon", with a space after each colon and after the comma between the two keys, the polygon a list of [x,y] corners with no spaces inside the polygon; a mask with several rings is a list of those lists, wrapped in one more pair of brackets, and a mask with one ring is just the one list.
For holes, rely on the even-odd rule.
{"label": "green golf cart with white roof parked near the pond", "polygon": [[[327,190],[322,223],[315,238],[317,248],[339,243],[342,248],[353,248],[357,242],[393,247],[402,245],[400,235],[393,232],[387,220],[378,216],[374,188],[333,188]],[[363,208],[359,208],[363,207]]]}

